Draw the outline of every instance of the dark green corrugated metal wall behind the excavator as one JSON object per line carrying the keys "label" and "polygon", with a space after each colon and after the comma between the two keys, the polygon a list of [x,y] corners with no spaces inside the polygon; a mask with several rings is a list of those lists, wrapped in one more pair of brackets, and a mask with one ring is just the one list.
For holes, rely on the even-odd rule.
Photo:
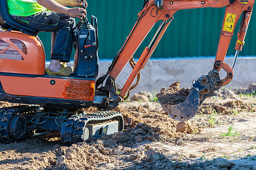
{"label": "dark green corrugated metal wall behind the excavator", "polygon": [[[114,58],[135,24],[137,14],[142,9],[143,0],[87,0],[87,2],[88,18],[94,15],[98,19],[99,57],[101,59]],[[224,12],[225,8],[177,11],[174,20],[172,20],[152,57],[215,56]],[[256,32],[254,31],[256,30],[256,18],[254,16],[256,14],[251,17],[245,46],[240,52],[240,56],[256,56]],[[235,53],[234,44],[237,39],[239,24],[240,22],[230,43],[228,56]],[[150,43],[158,25],[156,24],[148,34],[137,53],[135,53],[135,58],[138,58],[144,47]],[[51,34],[40,32],[39,37],[43,41],[46,57],[50,59]],[[71,58],[73,58],[73,55]]]}

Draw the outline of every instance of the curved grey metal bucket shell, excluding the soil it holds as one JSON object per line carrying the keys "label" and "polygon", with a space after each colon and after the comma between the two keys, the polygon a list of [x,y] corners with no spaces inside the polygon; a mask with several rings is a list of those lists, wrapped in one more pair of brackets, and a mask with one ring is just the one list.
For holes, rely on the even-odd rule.
{"label": "curved grey metal bucket shell, excluding the soil it holds", "polygon": [[162,101],[159,103],[174,120],[186,121],[195,116],[199,109],[199,90],[192,86],[187,99],[180,104],[164,104]]}

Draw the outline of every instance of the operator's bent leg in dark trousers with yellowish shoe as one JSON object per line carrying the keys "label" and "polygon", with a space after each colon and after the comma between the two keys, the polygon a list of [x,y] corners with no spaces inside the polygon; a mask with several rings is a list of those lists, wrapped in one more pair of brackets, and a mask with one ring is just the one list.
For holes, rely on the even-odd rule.
{"label": "operator's bent leg in dark trousers with yellowish shoe", "polygon": [[[69,76],[71,67],[64,67],[60,62],[69,62],[73,47],[73,29],[75,19],[65,14],[43,11],[31,16],[15,16],[17,22],[39,31],[52,32],[51,63],[47,68],[50,75]],[[61,73],[65,72],[63,75]],[[61,72],[61,73],[60,73]]]}

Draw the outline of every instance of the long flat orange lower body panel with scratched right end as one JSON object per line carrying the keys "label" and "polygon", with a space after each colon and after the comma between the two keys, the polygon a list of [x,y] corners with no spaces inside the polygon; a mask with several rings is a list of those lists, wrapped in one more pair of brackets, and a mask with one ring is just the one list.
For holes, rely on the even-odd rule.
{"label": "long flat orange lower body panel with scratched right end", "polygon": [[94,80],[0,75],[0,81],[9,95],[94,100]]}

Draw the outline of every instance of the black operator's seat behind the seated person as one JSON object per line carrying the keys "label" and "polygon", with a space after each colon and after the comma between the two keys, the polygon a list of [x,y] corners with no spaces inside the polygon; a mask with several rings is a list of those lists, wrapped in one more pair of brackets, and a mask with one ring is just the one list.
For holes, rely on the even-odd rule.
{"label": "black operator's seat behind the seated person", "polygon": [[34,28],[26,27],[22,24],[15,22],[13,18],[11,18],[8,10],[7,0],[0,0],[0,25],[4,29],[11,29],[16,31],[22,31],[32,36],[38,35],[39,31]]}

